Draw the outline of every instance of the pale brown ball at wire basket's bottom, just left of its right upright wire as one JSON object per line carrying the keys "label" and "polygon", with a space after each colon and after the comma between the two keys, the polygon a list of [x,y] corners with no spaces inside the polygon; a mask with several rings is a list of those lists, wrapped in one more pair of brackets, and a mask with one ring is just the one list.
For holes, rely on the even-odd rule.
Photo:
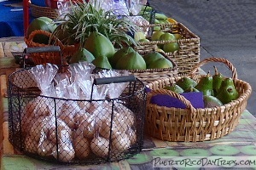
{"label": "pale brown ball at wire basket's bottom, just left of its right upright wire", "polygon": [[90,142],[90,150],[92,150],[96,156],[108,156],[109,140],[102,137],[92,139]]}

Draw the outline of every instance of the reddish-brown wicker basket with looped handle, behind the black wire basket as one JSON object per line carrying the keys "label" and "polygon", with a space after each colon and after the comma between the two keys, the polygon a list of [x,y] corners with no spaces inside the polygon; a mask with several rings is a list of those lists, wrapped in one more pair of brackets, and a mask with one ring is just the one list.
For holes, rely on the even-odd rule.
{"label": "reddish-brown wicker basket with looped handle, behind the black wire basket", "polygon": [[51,37],[52,34],[50,32],[43,30],[32,31],[29,37],[24,38],[28,48],[50,46],[43,43],[33,42],[33,37],[38,34],[54,38],[54,45],[60,46],[61,54],[56,52],[33,53],[30,55],[30,57],[32,58],[35,65],[42,65],[46,63],[51,63],[55,65],[67,65],[67,57],[73,55],[79,49],[79,44],[64,45],[58,38]]}

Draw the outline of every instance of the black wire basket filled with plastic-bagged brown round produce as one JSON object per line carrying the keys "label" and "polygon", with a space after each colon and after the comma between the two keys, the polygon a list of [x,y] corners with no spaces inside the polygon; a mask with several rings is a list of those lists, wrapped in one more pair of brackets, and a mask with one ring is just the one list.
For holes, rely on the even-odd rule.
{"label": "black wire basket filled with plastic-bagged brown round produce", "polygon": [[[67,164],[136,155],[143,147],[144,85],[125,76],[95,79],[91,88],[112,82],[128,84],[118,99],[59,99],[40,95],[29,70],[14,72],[9,76],[10,143],[26,156]],[[85,109],[102,116],[84,114]]]}

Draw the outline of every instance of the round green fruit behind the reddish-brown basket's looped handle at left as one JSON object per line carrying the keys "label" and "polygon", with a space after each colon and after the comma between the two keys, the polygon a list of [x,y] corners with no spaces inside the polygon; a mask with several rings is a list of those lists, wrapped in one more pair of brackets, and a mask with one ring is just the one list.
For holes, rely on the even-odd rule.
{"label": "round green fruit behind the reddish-brown basket's looped handle at left", "polygon": [[[32,20],[28,26],[26,36],[29,37],[32,31],[36,30],[43,30],[52,33],[56,27],[57,25],[55,24],[54,20],[51,20],[48,17],[38,17]],[[48,44],[49,37],[45,36],[44,34],[38,34],[33,37],[33,42]]]}

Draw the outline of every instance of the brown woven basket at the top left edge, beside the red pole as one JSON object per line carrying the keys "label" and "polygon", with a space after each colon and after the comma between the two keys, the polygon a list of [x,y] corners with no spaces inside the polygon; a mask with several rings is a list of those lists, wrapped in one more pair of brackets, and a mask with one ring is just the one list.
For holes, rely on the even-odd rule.
{"label": "brown woven basket at the top left edge, beside the red pole", "polygon": [[56,19],[59,16],[57,8],[41,7],[35,4],[30,4],[31,14],[33,17],[49,17],[50,19]]}

